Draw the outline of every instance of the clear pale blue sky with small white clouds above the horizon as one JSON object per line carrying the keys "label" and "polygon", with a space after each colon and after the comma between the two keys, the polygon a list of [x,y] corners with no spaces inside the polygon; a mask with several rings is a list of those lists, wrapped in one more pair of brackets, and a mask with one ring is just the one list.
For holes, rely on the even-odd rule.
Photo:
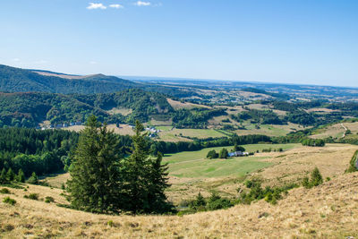
{"label": "clear pale blue sky with small white clouds above the horizon", "polygon": [[2,0],[0,64],[358,86],[358,1]]}

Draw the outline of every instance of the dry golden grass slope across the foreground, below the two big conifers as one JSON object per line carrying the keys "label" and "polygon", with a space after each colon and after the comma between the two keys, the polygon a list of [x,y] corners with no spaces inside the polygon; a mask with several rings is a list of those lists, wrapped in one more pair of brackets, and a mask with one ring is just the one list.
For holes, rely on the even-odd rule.
{"label": "dry golden grass slope across the foreground, below the two big conifers", "polygon": [[[298,188],[272,206],[265,201],[232,209],[177,216],[106,216],[64,209],[40,198],[61,190],[30,185],[10,189],[14,206],[0,203],[3,238],[343,238],[357,236],[358,173],[341,175],[311,190]],[[0,195],[3,201],[5,195]],[[110,221],[110,223],[108,223]]]}

